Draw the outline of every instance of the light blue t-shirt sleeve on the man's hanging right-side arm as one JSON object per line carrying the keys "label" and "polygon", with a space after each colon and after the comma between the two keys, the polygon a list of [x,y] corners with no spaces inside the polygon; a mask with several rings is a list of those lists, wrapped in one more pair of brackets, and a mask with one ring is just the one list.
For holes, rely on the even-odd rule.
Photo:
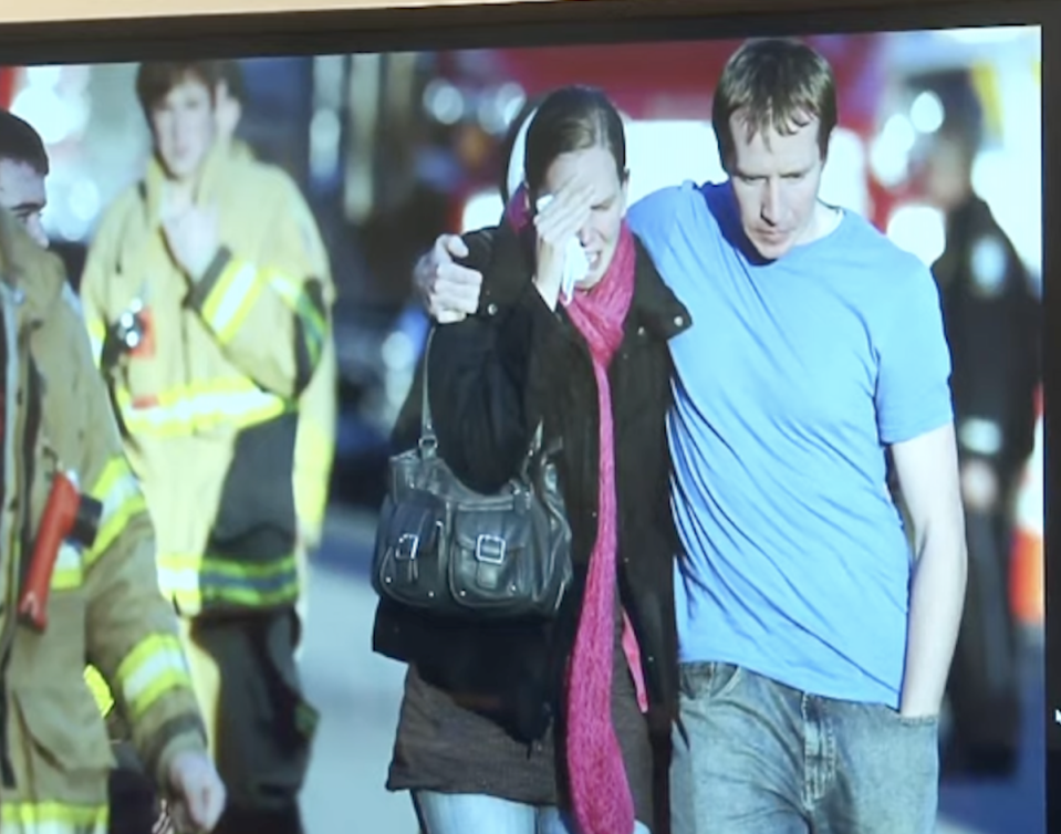
{"label": "light blue t-shirt sleeve on the man's hanging right-side arm", "polygon": [[932,273],[918,267],[895,301],[877,352],[877,429],[887,446],[954,419],[950,347]]}

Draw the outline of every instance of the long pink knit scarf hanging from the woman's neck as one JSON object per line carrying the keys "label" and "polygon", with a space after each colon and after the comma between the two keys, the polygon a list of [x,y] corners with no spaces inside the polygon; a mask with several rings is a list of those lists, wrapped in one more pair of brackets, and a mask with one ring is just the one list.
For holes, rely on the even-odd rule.
{"label": "long pink knit scarf hanging from the woman's neck", "polygon": [[[529,220],[522,189],[509,204],[510,221]],[[596,542],[590,555],[585,593],[568,670],[566,758],[571,802],[580,834],[627,834],[634,830],[634,800],[623,753],[612,723],[612,671],[615,650],[617,508],[615,440],[607,369],[623,341],[623,325],[634,295],[636,253],[624,222],[612,262],[589,292],[575,291],[568,316],[585,338],[593,362],[600,406],[600,476]],[[631,633],[632,636],[632,633]],[[624,640],[624,647],[630,644]],[[636,654],[636,649],[635,649]],[[639,685],[639,658],[633,661]],[[641,695],[641,687],[638,686]]]}

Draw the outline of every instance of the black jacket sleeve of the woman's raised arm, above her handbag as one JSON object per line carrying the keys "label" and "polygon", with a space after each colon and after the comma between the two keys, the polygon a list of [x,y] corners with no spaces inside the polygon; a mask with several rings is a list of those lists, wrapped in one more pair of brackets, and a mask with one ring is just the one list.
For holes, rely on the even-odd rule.
{"label": "black jacket sleeve of the woman's raised arm, above her handbag", "polygon": [[[474,258],[480,248],[469,242]],[[469,265],[485,286],[501,278],[492,261]],[[563,340],[529,277],[511,304],[435,329],[426,368],[438,450],[471,489],[495,492],[517,473],[563,373]]]}

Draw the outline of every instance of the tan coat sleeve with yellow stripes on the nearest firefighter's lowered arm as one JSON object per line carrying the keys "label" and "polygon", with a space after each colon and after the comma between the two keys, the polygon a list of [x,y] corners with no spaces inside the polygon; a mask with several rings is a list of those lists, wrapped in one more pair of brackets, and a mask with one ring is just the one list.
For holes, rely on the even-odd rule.
{"label": "tan coat sleeve with yellow stripes on the nearest firefighter's lowered arm", "polygon": [[[86,646],[92,664],[132,729],[142,761],[165,785],[174,757],[206,751],[206,731],[173,606],[158,590],[155,539],[139,483],[125,458],[72,291],[50,317],[65,340],[71,403],[84,415],[73,461],[81,488],[103,505],[85,554]],[[101,703],[101,706],[103,706]]]}

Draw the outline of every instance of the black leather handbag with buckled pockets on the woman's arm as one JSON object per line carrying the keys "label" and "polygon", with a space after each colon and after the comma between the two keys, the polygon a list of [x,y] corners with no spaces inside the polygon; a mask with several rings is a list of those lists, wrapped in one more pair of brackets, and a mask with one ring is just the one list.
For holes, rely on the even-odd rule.
{"label": "black leather handbag with buckled pockets on the woman's arm", "polygon": [[549,618],[571,584],[571,528],[539,425],[499,492],[466,487],[438,455],[424,357],[420,438],[391,458],[373,554],[376,593],[447,619]]}

